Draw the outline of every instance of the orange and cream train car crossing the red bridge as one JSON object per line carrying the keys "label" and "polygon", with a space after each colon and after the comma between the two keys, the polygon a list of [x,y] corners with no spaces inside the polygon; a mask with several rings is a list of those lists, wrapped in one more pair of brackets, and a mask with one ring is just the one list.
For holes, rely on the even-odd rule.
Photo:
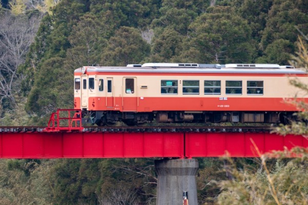
{"label": "orange and cream train car crossing the red bridge", "polygon": [[157,122],[283,122],[308,101],[291,86],[300,69],[275,64],[147,63],[84,66],[74,71],[74,109],[97,125]]}

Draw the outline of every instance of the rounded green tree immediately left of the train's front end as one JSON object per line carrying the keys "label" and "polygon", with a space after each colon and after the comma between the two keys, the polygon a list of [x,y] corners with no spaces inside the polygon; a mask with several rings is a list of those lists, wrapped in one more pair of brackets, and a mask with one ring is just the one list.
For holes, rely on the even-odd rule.
{"label": "rounded green tree immediately left of the train's front end", "polygon": [[[35,76],[26,110],[40,116],[49,117],[58,108],[70,108],[73,105],[73,75],[65,68],[64,58],[53,57],[45,60],[41,70]],[[46,124],[47,119],[42,120]]]}

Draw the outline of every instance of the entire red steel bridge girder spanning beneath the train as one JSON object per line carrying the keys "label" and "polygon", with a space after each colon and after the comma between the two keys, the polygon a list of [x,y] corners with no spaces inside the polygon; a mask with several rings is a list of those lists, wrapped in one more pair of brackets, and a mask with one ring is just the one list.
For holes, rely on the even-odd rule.
{"label": "entire red steel bridge girder spanning beneath the train", "polygon": [[2,132],[0,158],[258,157],[308,147],[299,135],[232,132]]}

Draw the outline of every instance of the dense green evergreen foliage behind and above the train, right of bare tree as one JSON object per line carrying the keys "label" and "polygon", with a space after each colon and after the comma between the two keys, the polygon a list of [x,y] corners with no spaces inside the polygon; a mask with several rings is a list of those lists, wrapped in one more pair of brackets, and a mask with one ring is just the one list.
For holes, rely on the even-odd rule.
{"label": "dense green evergreen foliage behind and above the train, right of bare tree", "polygon": [[300,0],[62,0],[43,18],[20,68],[26,110],[41,116],[70,107],[69,76],[84,65],[287,64],[295,53],[295,26],[307,33],[306,11]]}

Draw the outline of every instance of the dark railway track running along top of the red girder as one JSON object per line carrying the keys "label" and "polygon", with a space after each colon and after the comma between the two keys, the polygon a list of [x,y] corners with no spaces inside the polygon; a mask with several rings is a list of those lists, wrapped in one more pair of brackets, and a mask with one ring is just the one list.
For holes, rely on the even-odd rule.
{"label": "dark railway track running along top of the red girder", "polygon": [[[70,132],[271,132],[273,127],[84,127]],[[46,127],[0,127],[2,132],[47,132]],[[50,131],[49,131],[50,132]],[[53,131],[55,132],[55,131]],[[68,132],[63,129],[58,132]]]}

